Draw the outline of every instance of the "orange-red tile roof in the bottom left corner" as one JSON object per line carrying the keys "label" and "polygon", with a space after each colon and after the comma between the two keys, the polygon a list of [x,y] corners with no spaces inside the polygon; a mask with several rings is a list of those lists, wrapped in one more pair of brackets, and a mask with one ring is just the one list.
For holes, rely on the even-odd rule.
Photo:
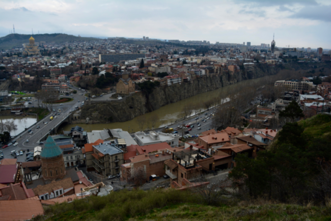
{"label": "orange-red tile roof in the bottom left corner", "polygon": [[27,220],[44,214],[40,200],[0,201],[0,221]]}

